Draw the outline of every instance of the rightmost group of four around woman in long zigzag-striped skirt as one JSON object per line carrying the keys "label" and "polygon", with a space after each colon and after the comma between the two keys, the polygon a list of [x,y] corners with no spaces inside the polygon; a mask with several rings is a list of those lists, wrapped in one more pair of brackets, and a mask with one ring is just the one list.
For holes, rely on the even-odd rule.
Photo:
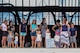
{"label": "rightmost group of four around woman in long zigzag-striped skirt", "polygon": [[52,30],[55,31],[54,41],[57,48],[77,48],[77,29],[73,23],[68,23],[67,19],[63,18],[62,24],[57,20]]}

